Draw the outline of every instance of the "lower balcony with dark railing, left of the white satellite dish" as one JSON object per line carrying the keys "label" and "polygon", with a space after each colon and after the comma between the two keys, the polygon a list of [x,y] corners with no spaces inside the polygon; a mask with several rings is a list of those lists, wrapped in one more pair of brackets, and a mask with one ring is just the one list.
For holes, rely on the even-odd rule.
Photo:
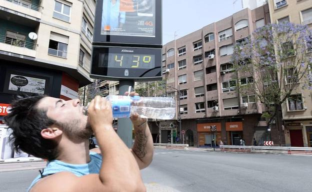
{"label": "lower balcony with dark railing, left of the white satellite dish", "polygon": [[0,35],[0,50],[35,57],[36,44],[29,41],[18,40]]}

